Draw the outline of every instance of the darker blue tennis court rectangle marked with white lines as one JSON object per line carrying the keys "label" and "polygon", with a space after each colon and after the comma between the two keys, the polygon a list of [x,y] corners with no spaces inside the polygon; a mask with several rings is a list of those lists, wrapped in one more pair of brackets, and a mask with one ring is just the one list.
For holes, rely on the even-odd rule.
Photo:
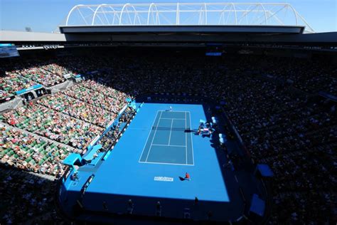
{"label": "darker blue tennis court rectangle marked with white lines", "polygon": [[139,162],[193,165],[191,114],[157,111]]}

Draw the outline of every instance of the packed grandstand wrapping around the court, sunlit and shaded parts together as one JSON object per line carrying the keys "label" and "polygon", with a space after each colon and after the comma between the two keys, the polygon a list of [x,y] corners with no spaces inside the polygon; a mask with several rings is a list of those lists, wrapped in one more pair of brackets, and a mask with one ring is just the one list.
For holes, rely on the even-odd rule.
{"label": "packed grandstand wrapping around the court, sunlit and shaded parts together", "polygon": [[[30,85],[63,82],[61,74],[104,68],[57,93],[24,100],[21,107],[1,112],[3,223],[55,219],[53,180],[65,171],[60,162],[70,152],[82,153],[127,98],[151,92],[227,101],[228,116],[252,159],[269,164],[275,173],[269,223],[336,219],[336,102],[317,95],[337,94],[336,67],[323,59],[141,55],[18,58],[2,64],[1,98]],[[14,167],[46,174],[52,181],[41,185],[29,174],[23,177],[8,169]]]}

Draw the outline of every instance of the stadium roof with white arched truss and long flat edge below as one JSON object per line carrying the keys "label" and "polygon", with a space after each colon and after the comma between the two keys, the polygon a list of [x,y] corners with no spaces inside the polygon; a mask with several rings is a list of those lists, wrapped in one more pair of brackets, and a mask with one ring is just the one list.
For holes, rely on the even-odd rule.
{"label": "stadium roof with white arched truss and long flat edge below", "polygon": [[0,31],[0,41],[18,46],[36,43],[42,48],[53,44],[205,46],[213,42],[336,46],[337,40],[337,32],[315,33],[290,4],[274,3],[77,5],[60,31]]}

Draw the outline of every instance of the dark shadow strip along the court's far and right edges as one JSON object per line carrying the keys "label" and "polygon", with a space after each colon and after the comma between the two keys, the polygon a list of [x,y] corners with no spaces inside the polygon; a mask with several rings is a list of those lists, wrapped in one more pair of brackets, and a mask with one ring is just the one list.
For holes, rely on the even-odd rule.
{"label": "dark shadow strip along the court's far and right edges", "polygon": [[[142,100],[146,102],[146,100],[148,100],[148,96],[154,97],[151,98],[149,103],[203,105],[206,121],[212,121],[213,116],[219,118],[220,122],[218,123],[218,126],[215,128],[215,132],[212,135],[200,135],[201,138],[209,138],[210,146],[215,149],[215,154],[218,158],[218,164],[222,173],[223,182],[225,183],[228,197],[230,198],[230,202],[223,204],[219,210],[222,214],[228,214],[228,211],[225,209],[230,206],[232,207],[232,210],[237,210],[235,213],[233,211],[231,212],[231,216],[233,217],[235,214],[247,214],[249,211],[252,194],[259,193],[263,195],[261,193],[262,189],[259,188],[260,182],[253,175],[252,171],[254,168],[252,168],[250,160],[245,157],[245,153],[242,152],[243,150],[240,148],[237,140],[228,140],[228,142],[225,144],[225,147],[220,146],[218,135],[220,133],[228,135],[230,132],[230,127],[227,118],[223,114],[223,111],[216,108],[217,103],[207,97],[198,95],[167,95],[166,93],[161,93],[158,95],[144,95]],[[141,98],[139,98],[139,100],[140,99]],[[190,132],[193,132],[194,135],[198,135],[198,130],[196,130],[196,128],[197,127],[191,127],[190,129]],[[188,131],[186,130],[186,132]],[[228,164],[229,159],[235,160],[233,159],[235,155],[240,158],[240,163],[236,163],[238,167],[233,170],[229,167],[226,167],[226,164]],[[215,213],[215,211],[213,212]],[[230,217],[229,214],[227,216]]]}

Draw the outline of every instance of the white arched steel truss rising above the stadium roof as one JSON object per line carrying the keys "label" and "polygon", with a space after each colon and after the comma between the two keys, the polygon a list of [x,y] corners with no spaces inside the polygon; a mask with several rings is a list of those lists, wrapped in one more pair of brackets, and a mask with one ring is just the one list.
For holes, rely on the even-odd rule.
{"label": "white arched steel truss rising above the stadium roof", "polygon": [[77,5],[65,26],[305,26],[287,3],[149,3]]}

